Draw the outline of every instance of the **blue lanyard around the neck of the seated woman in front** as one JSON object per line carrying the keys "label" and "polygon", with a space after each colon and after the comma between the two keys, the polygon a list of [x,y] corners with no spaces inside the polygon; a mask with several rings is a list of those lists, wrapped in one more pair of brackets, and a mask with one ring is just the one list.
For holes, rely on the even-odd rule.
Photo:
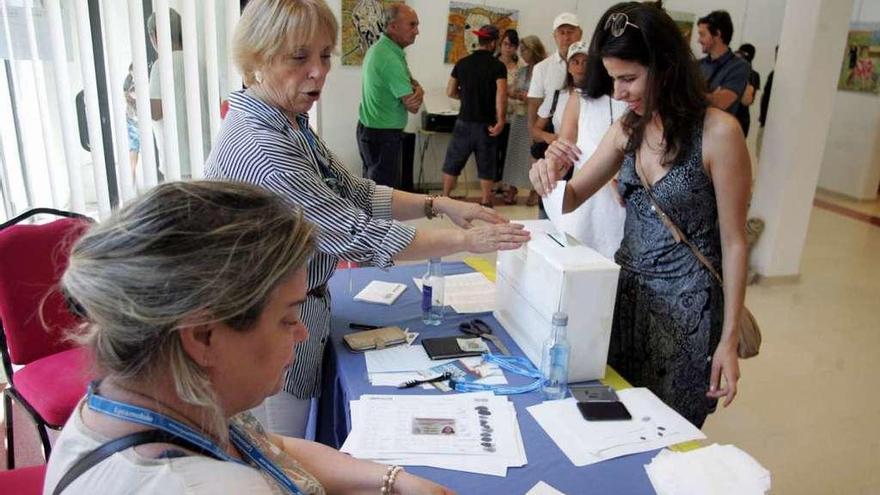
{"label": "blue lanyard around the neck of the seated woman in front", "polygon": [[[96,394],[95,382],[89,384],[88,405],[91,410],[106,414],[107,416],[128,421],[129,423],[152,426],[153,428],[165,431],[176,437],[183,438],[201,447],[206,452],[210,452],[214,457],[223,461],[235,462],[245,466],[248,465],[227,454],[225,450],[218,447],[217,444],[208,439],[202,433],[177,420],[150,409],[126,404],[125,402],[118,402]],[[302,492],[297,488],[293,480],[276,466],[274,462],[266,458],[266,456],[260,452],[260,449],[247,439],[238,426],[229,425],[229,439],[232,440],[233,445],[235,445],[242,455],[255,464],[260,470],[269,474],[269,476],[271,476],[272,479],[281,485],[288,493],[302,495]]]}

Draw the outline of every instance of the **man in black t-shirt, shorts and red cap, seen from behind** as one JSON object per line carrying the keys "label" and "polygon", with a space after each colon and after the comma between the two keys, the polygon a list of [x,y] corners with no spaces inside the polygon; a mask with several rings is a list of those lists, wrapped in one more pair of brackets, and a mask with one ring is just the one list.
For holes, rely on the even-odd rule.
{"label": "man in black t-shirt, shorts and red cap, seen from behind", "polygon": [[480,204],[492,207],[497,137],[507,111],[507,68],[495,58],[498,28],[487,24],[473,32],[480,47],[452,69],[446,94],[461,100],[458,120],[443,164],[443,195],[455,189],[471,153],[476,155]]}

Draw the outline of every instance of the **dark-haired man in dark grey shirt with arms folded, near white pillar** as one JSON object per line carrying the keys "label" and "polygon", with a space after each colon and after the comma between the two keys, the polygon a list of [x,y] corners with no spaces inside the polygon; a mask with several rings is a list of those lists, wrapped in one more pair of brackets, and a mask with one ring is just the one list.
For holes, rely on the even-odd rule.
{"label": "dark-haired man in dark grey shirt with arms folded, near white pillar", "polygon": [[733,22],[730,14],[716,10],[697,21],[697,33],[705,57],[700,70],[706,78],[709,104],[736,115],[746,90],[751,67],[730,49]]}

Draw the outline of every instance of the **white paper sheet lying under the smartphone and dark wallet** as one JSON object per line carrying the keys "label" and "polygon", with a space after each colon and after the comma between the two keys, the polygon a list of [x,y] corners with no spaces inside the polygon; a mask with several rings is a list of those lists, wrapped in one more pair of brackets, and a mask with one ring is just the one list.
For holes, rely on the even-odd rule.
{"label": "white paper sheet lying under the smartphone and dark wallet", "polygon": [[706,438],[646,388],[620,390],[617,395],[631,420],[587,421],[574,399],[546,401],[527,410],[579,467]]}

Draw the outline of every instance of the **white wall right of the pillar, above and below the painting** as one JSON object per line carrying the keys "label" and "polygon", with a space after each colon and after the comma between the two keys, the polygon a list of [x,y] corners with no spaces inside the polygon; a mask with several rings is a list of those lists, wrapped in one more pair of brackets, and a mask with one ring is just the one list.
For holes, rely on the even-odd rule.
{"label": "white wall right of the pillar, above and below the painting", "polygon": [[[880,0],[856,0],[852,20],[880,22]],[[837,91],[819,187],[856,199],[874,199],[878,185],[880,95]]]}

